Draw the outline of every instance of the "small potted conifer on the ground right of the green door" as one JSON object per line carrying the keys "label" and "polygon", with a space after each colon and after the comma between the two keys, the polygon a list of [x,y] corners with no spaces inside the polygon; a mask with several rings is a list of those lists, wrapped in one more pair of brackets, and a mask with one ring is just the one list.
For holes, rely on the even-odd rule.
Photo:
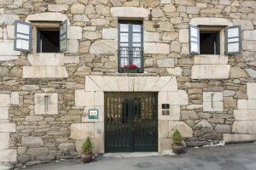
{"label": "small potted conifer on the ground right of the green door", "polygon": [[185,152],[182,140],[183,138],[181,133],[176,129],[174,133],[172,133],[172,151],[175,154],[182,154]]}

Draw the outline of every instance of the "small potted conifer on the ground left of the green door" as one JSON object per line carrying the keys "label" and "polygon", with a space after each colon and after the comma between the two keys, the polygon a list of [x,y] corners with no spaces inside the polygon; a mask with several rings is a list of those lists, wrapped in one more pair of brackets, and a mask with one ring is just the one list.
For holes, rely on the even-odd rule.
{"label": "small potted conifer on the ground left of the green door", "polygon": [[87,137],[87,139],[84,141],[82,145],[82,155],[81,155],[81,161],[83,163],[90,163],[92,160],[92,152],[91,152],[91,141],[90,138]]}

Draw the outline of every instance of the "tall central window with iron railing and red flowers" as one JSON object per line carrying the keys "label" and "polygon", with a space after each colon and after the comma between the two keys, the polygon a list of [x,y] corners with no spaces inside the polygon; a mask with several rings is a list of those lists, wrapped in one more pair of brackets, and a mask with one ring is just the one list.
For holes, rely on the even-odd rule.
{"label": "tall central window with iron railing and red flowers", "polygon": [[119,21],[119,72],[143,72],[143,22]]}

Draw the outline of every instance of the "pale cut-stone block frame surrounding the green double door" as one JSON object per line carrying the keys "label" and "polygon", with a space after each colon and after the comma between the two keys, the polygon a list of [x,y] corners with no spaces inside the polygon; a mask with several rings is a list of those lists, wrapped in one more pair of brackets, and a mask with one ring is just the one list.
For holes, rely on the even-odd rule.
{"label": "pale cut-stone block frame surrounding the green double door", "polygon": [[[191,137],[192,130],[180,121],[180,105],[188,105],[189,97],[184,90],[177,89],[176,77],[127,77],[127,76],[86,76],[84,89],[75,91],[75,105],[84,108],[82,123],[71,125],[71,138],[93,139],[94,151],[104,153],[104,93],[105,92],[157,92],[158,93],[158,144],[159,152],[171,149],[170,132],[174,127],[186,131],[184,137]],[[161,115],[161,105],[170,105],[170,115]],[[88,119],[88,110],[97,109],[99,117]],[[166,125],[166,122],[168,124]],[[169,123],[172,126],[169,126]],[[166,126],[163,127],[162,125]],[[80,132],[80,133],[79,133]],[[189,132],[189,135],[188,133]],[[80,142],[81,143],[81,142]]]}

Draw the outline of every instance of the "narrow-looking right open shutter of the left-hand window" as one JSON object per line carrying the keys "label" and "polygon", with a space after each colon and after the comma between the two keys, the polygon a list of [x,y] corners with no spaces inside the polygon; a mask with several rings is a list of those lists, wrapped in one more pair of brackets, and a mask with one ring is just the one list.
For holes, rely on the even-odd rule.
{"label": "narrow-looking right open shutter of the left-hand window", "polygon": [[61,52],[67,51],[67,20],[64,20],[63,22],[61,22],[60,47],[61,47]]}

